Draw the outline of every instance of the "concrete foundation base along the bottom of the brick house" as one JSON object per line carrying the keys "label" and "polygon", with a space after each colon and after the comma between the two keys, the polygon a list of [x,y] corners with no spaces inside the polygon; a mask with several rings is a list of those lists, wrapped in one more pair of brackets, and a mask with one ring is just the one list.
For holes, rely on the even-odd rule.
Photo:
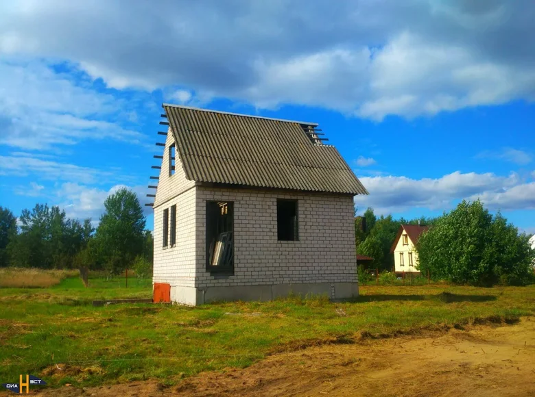
{"label": "concrete foundation base along the bottom of the brick house", "polygon": [[359,296],[359,285],[358,283],[299,283],[204,288],[171,285],[171,302],[191,306],[221,300],[266,301],[284,298],[291,294],[326,295],[331,300],[345,300]]}

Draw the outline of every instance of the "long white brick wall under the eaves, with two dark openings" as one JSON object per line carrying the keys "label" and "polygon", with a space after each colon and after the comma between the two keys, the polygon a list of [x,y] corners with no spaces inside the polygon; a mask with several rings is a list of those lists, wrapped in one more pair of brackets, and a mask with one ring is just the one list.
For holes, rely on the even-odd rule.
{"label": "long white brick wall under the eaves, with two dark openings", "polygon": [[[197,287],[357,282],[353,198],[260,190],[197,190]],[[299,241],[278,241],[276,199],[298,200]],[[206,272],[206,201],[234,202],[234,276]]]}

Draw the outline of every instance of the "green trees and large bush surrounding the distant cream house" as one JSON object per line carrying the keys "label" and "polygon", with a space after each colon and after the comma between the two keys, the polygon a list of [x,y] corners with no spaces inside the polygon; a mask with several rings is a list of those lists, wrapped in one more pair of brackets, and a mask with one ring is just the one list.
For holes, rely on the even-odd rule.
{"label": "green trees and large bush surrounding the distant cream house", "polygon": [[390,248],[401,225],[429,226],[416,243],[417,270],[436,280],[490,286],[535,282],[535,251],[530,236],[498,212],[492,216],[479,200],[462,201],[451,212],[435,218],[377,218],[369,207],[355,217],[357,253],[374,258],[371,266],[394,269]]}

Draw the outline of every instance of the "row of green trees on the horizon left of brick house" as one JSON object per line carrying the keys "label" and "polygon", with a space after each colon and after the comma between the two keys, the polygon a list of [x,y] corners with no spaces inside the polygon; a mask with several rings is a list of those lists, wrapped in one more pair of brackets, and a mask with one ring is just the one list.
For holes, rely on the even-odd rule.
{"label": "row of green trees on the horizon left of brick house", "polygon": [[0,207],[0,266],[90,268],[118,274],[152,266],[152,233],[134,192],[123,188],[104,202],[98,227],[67,218],[57,206],[36,204],[18,219]]}

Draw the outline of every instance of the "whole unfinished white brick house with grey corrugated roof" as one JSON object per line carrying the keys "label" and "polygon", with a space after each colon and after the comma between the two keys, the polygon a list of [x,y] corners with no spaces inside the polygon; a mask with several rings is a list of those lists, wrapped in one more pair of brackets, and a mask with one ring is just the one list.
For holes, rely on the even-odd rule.
{"label": "whole unfinished white brick house with grey corrugated roof", "polygon": [[353,196],[368,192],[318,124],[163,108],[156,300],[357,296]]}

